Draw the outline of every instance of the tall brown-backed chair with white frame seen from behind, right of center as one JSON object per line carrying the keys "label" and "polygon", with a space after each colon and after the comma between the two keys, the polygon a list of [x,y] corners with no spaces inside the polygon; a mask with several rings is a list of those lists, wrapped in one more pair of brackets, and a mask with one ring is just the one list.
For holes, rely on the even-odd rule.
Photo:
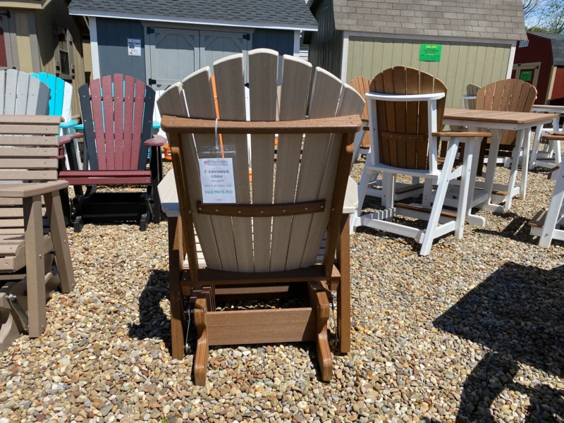
{"label": "tall brown-backed chair with white frame seen from behind, right of center", "polygon": [[[353,227],[369,226],[415,238],[422,244],[420,255],[429,255],[433,240],[455,231],[462,238],[467,212],[467,194],[470,180],[470,157],[478,137],[489,133],[439,132],[446,102],[446,86],[429,73],[414,68],[396,66],[376,75],[366,94],[369,110],[371,148],[358,188],[358,209]],[[440,138],[450,137],[446,156],[438,157]],[[480,138],[481,139],[481,138]],[[465,159],[455,166],[458,145],[465,142]],[[384,209],[361,216],[362,202],[369,180],[374,173],[387,174],[384,189]],[[425,178],[422,204],[431,202],[432,187],[437,185],[431,208],[422,204],[396,203],[394,196],[396,175]],[[458,213],[443,211],[446,190],[450,180],[461,178]],[[400,225],[392,222],[394,216],[404,215],[429,220],[427,228]],[[443,223],[439,226],[439,223]]]}

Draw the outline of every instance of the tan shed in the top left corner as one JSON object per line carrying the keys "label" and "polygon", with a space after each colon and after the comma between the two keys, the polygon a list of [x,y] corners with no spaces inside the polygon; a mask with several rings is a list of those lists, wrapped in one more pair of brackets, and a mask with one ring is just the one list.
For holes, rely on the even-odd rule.
{"label": "tan shed in the top left corner", "polygon": [[78,87],[87,81],[82,37],[85,18],[70,16],[66,0],[0,1],[0,69],[47,72],[73,85],[73,116],[80,114]]}

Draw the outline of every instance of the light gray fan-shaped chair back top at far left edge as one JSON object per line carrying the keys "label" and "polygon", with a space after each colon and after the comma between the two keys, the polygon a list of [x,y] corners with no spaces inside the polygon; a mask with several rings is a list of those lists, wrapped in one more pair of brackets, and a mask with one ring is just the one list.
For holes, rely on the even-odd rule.
{"label": "light gray fan-shaped chair back top at far left edge", "polygon": [[49,87],[29,73],[0,71],[1,115],[48,115]]}

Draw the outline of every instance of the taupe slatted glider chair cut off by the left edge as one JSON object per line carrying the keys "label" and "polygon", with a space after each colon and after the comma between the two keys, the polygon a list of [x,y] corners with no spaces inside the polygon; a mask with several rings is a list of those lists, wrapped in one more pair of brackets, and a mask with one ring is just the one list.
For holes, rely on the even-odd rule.
{"label": "taupe slatted glider chair cut off by the left edge", "polygon": [[[39,81],[37,81],[39,82]],[[46,327],[47,290],[75,285],[57,180],[56,116],[0,116],[0,351]],[[42,206],[42,202],[44,205]],[[55,264],[54,265],[54,260]]]}

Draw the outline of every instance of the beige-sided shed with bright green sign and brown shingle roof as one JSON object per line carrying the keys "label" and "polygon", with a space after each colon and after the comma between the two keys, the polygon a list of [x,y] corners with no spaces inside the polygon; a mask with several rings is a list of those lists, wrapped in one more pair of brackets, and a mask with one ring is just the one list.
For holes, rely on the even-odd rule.
{"label": "beige-sided shed with bright green sign and brown shingle roof", "polygon": [[350,81],[411,66],[448,87],[462,107],[466,85],[510,78],[515,46],[526,39],[522,0],[309,0],[319,31],[309,61]]}

